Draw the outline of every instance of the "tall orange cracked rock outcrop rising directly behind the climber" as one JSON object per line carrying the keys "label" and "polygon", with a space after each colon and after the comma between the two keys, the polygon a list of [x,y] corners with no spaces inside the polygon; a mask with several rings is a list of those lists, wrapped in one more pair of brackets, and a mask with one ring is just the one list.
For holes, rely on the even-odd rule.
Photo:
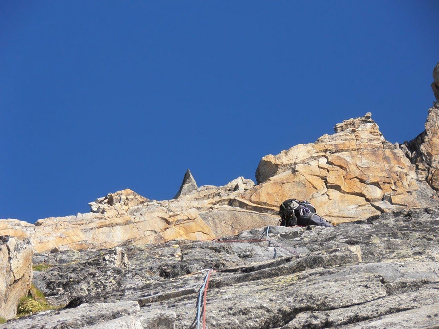
{"label": "tall orange cracked rock outcrop rising directly behind the climber", "polygon": [[245,197],[266,206],[291,197],[309,200],[333,223],[436,205],[434,191],[399,145],[384,139],[370,113],[334,130],[315,143],[263,157],[256,171],[259,185]]}

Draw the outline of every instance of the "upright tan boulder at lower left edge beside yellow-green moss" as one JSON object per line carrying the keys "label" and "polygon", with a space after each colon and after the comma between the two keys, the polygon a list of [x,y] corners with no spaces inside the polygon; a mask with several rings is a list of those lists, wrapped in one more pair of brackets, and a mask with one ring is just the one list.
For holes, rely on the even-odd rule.
{"label": "upright tan boulder at lower left edge beside yellow-green moss", "polygon": [[12,319],[32,283],[32,247],[9,235],[0,236],[0,317]]}

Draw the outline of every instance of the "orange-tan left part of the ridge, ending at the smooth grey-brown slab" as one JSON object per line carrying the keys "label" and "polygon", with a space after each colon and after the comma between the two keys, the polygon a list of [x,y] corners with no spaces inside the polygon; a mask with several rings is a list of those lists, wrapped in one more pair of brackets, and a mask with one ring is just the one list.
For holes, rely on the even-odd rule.
{"label": "orange-tan left part of the ridge, ending at the smooth grey-brown slab", "polygon": [[28,238],[37,252],[214,236],[197,209],[168,205],[167,201],[150,201],[131,190],[123,190],[91,203],[90,213],[40,219],[35,225],[17,220],[0,221],[0,234]]}

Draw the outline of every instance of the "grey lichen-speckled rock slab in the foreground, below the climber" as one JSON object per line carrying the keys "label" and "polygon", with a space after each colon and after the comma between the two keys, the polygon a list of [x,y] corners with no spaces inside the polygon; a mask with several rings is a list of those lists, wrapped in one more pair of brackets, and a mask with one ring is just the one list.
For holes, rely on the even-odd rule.
{"label": "grey lichen-speckled rock slab in the foreground, below the climber", "polygon": [[208,268],[215,270],[206,293],[208,328],[438,324],[438,208],[386,213],[335,228],[270,226],[214,241],[122,249],[129,268],[106,262],[105,252],[35,254],[35,263],[53,265],[34,280],[47,299],[80,300],[1,328],[194,328],[207,273],[200,271]]}

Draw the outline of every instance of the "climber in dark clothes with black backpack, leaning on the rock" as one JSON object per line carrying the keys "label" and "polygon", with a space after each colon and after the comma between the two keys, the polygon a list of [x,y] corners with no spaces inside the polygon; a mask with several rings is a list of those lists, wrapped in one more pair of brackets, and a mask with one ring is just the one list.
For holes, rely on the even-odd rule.
{"label": "climber in dark clothes with black backpack, leaning on the rock", "polygon": [[308,201],[298,201],[288,199],[280,204],[279,209],[280,226],[309,226],[318,225],[325,227],[334,227],[323,217],[316,214],[316,208]]}

